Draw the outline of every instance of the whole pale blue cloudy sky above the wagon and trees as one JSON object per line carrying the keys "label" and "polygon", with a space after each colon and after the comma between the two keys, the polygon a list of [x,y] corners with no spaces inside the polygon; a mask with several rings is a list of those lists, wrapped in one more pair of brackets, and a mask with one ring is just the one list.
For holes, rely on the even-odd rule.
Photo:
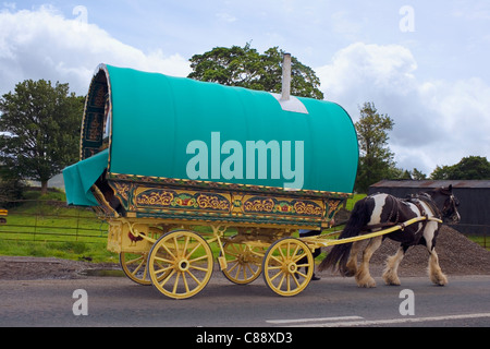
{"label": "whole pale blue cloudy sky above the wagon and trees", "polygon": [[373,101],[399,167],[490,159],[488,0],[0,0],[0,94],[45,79],[85,95],[101,62],[186,76],[193,55],[246,43],[311,67],[354,121]]}

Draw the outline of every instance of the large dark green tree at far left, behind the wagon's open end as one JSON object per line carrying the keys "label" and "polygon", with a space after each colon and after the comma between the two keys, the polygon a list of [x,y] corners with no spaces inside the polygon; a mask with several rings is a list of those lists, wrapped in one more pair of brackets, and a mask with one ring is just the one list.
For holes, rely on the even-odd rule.
{"label": "large dark green tree at far left, behind the wagon's open end", "polygon": [[0,98],[0,161],[13,177],[41,182],[78,158],[84,98],[69,84],[27,80]]}

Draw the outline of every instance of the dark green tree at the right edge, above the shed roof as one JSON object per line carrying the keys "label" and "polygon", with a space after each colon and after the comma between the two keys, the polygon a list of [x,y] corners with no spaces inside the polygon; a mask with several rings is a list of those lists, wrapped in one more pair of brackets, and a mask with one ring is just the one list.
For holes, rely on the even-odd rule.
{"label": "dark green tree at the right edge, above the shed roof", "polygon": [[486,157],[468,156],[453,166],[438,166],[430,174],[434,180],[488,180],[490,179],[490,163]]}

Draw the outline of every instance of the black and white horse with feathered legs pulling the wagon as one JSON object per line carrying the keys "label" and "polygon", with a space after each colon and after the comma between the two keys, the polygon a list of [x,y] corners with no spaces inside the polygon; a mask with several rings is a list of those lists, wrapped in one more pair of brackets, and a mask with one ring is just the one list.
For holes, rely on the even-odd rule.
{"label": "black and white horse with feathered legs pulling the wagon", "polygon": [[[345,229],[339,239],[379,231],[416,217],[439,218],[444,222],[457,224],[461,219],[457,212],[460,205],[453,195],[453,188],[438,188],[401,200],[388,194],[375,194],[356,203]],[[388,257],[383,280],[387,285],[400,285],[397,268],[409,246],[425,244],[429,251],[429,277],[432,282],[444,286],[448,278],[439,266],[436,253],[436,239],[441,224],[424,220],[385,236],[371,238],[363,251],[363,258],[357,267],[357,254],[365,245],[364,241],[334,245],[332,251],[320,263],[319,269],[338,268],[343,276],[355,276],[359,287],[376,287],[369,274],[369,261],[384,238],[401,242],[395,255]]]}

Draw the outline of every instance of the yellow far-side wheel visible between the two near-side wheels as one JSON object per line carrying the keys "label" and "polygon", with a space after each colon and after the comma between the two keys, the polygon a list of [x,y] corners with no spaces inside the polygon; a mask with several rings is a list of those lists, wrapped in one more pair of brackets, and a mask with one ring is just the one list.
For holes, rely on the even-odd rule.
{"label": "yellow far-side wheel visible between the two near-side wheels", "polygon": [[232,282],[246,285],[253,282],[262,272],[262,257],[266,251],[262,246],[254,246],[234,242],[231,238],[223,245],[226,268],[221,272]]}

